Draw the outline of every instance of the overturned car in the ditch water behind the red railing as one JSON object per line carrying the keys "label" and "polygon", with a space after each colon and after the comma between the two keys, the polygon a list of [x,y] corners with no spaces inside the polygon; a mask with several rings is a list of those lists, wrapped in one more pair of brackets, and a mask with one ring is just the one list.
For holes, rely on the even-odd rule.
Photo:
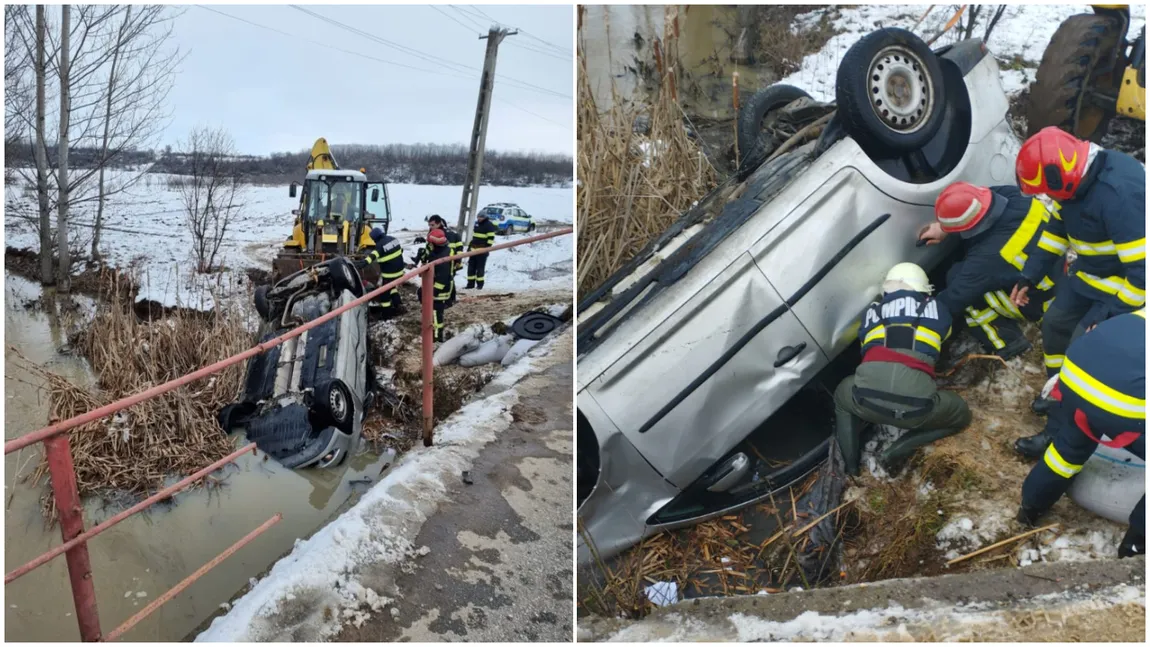
{"label": "overturned car in the ditch water behind the red railing", "polygon": [[[342,257],[260,286],[260,341],[362,295],[358,270]],[[368,379],[367,308],[359,306],[248,360],[240,400],[220,411],[220,426],[243,428],[284,467],[336,467],[359,444]]]}

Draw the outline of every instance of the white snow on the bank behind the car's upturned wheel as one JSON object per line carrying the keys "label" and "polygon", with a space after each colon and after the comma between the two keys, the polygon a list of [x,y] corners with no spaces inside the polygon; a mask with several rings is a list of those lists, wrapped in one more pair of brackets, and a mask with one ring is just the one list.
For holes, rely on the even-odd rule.
{"label": "white snow on the bank behind the car's upturned wheel", "polygon": [[[983,11],[994,6],[983,6]],[[926,11],[925,5],[861,5],[828,6],[802,14],[795,18],[791,29],[798,33],[816,24],[825,14],[830,13],[831,23],[842,33],[827,41],[815,54],[803,59],[799,70],[783,78],[780,83],[796,85],[807,91],[819,101],[835,100],[835,76],[838,62],[843,55],[864,36],[876,29],[898,26],[912,29],[918,36],[929,39],[937,33],[953,15],[951,5],[935,5],[934,9],[917,28],[914,24]],[[1089,5],[1009,5],[998,24],[990,33],[987,46],[998,59],[1002,67],[1003,88],[1017,93],[1034,83],[1034,75],[1042,53],[1055,34],[1055,30],[1070,16],[1092,13]],[[964,16],[965,20],[965,16]],[[982,37],[986,18],[980,16],[974,34]],[[1145,24],[1145,5],[1130,6],[1130,33],[1136,33]],[[931,47],[958,40],[956,26],[940,38]],[[1017,69],[1015,69],[1017,68]]]}

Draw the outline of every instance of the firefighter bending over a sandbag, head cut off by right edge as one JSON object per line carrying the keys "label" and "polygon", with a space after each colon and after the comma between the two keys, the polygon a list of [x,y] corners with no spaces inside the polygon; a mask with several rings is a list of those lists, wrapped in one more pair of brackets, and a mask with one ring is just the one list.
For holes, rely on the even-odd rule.
{"label": "firefighter bending over a sandbag, head cut off by right edge", "polygon": [[[1030,447],[1042,461],[1022,482],[1022,524],[1035,525],[1053,507],[1099,444],[1145,459],[1145,333],[1143,308],[1099,323],[1066,349],[1043,430],[1052,442],[1044,452],[1045,442]],[[1143,495],[1130,513],[1119,557],[1145,550],[1145,501]]]}

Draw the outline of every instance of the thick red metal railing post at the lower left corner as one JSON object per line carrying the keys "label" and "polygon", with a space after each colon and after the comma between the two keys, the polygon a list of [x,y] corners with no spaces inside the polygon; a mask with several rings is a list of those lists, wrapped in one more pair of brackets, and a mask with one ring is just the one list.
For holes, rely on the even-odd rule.
{"label": "thick red metal railing post at the lower left corner", "polygon": [[[48,472],[52,475],[52,494],[60,516],[60,533],[64,541],[84,532],[84,508],[80,506],[79,488],[76,486],[76,469],[71,460],[70,436],[59,433],[44,440],[48,455]],[[85,642],[100,640],[100,614],[95,606],[95,585],[92,581],[92,562],[87,556],[87,542],[70,548],[68,579],[71,580],[72,602],[76,604],[76,621],[79,638]]]}

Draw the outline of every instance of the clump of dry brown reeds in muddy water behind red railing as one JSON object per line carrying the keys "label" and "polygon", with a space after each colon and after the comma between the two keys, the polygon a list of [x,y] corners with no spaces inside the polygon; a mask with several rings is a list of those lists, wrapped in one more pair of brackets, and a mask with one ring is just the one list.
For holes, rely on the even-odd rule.
{"label": "clump of dry brown reeds in muddy water behind red railing", "polygon": [[[252,344],[238,315],[177,310],[146,322],[132,313],[122,291],[112,286],[109,294],[72,340],[92,367],[93,388],[26,362],[47,380],[54,421],[184,376]],[[71,452],[80,494],[145,495],[166,478],[190,475],[227,456],[233,444],[221,431],[216,413],[235,401],[243,376],[244,365],[235,365],[74,430]],[[30,478],[39,483],[46,476],[41,461]],[[54,510],[46,511],[53,519]]]}

